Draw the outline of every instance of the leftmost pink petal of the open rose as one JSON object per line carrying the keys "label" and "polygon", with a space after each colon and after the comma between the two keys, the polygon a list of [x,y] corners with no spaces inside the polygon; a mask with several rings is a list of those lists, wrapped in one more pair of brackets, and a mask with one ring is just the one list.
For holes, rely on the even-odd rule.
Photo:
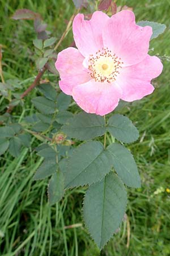
{"label": "leftmost pink petal of the open rose", "polygon": [[74,86],[91,79],[87,69],[83,67],[83,60],[78,49],[72,47],[58,53],[55,65],[61,77],[59,86],[64,93],[71,95]]}

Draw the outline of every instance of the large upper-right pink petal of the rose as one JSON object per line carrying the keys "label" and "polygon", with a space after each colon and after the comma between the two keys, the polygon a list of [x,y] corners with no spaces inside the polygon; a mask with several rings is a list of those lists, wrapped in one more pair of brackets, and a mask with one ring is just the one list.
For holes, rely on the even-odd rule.
{"label": "large upper-right pink petal of the rose", "polygon": [[124,65],[133,65],[145,59],[152,28],[135,24],[132,11],[124,10],[113,15],[103,29],[104,47],[120,57]]}

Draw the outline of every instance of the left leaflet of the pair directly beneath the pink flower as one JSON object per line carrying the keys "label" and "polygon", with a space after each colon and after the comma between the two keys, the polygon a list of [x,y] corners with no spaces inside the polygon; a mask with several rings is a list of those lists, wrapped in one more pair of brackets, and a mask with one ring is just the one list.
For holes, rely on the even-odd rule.
{"label": "left leaflet of the pair directly beneath the pink flower", "polygon": [[92,139],[105,133],[103,117],[95,114],[79,113],[69,119],[62,131],[71,138],[80,140]]}

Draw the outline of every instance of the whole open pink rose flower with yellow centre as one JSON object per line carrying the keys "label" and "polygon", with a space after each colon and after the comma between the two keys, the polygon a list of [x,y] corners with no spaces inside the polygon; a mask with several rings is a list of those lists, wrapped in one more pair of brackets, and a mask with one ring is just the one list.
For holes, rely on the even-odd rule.
{"label": "whole open pink rose flower with yellow centre", "polygon": [[132,11],[111,18],[96,11],[91,20],[78,14],[73,34],[78,49],[59,52],[56,69],[59,87],[84,111],[105,115],[120,99],[140,100],[154,91],[151,80],[160,75],[163,65],[147,54],[152,28],[137,26]]}

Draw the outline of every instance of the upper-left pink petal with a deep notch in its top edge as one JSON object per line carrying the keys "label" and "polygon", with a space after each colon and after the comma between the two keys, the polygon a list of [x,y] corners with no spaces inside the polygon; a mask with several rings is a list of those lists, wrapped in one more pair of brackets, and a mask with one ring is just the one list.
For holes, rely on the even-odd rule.
{"label": "upper-left pink petal with a deep notch in its top edge", "polygon": [[83,14],[75,16],[73,34],[76,47],[83,56],[89,56],[103,47],[102,30],[109,16],[95,11],[90,20],[84,20]]}

